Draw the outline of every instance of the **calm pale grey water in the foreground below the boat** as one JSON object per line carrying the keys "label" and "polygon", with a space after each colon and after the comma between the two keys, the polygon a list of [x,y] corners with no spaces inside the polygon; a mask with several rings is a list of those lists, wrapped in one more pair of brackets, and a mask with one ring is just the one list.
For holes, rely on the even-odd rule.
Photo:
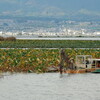
{"label": "calm pale grey water in the foreground below the boat", "polygon": [[0,100],[100,100],[100,74],[0,75]]}

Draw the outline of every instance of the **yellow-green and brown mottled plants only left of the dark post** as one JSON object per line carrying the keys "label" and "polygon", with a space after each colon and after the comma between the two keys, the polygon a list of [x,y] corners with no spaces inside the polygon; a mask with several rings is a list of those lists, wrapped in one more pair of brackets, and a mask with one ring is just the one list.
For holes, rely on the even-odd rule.
{"label": "yellow-green and brown mottled plants only left of the dark post", "polygon": [[[0,50],[0,68],[10,71],[45,72],[47,67],[57,66],[58,50],[7,49]],[[5,70],[5,71],[6,71]]]}

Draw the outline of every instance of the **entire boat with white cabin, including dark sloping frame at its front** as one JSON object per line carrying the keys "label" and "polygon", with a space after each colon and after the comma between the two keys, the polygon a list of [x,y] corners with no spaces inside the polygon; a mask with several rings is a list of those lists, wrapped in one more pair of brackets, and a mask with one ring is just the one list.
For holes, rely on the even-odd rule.
{"label": "entire boat with white cabin, including dark sloping frame at its front", "polygon": [[[60,63],[60,73],[100,73],[100,58],[92,58],[91,55],[77,55],[75,63],[61,51],[61,59],[67,62],[68,66],[63,68]],[[65,60],[66,59],[66,60]]]}

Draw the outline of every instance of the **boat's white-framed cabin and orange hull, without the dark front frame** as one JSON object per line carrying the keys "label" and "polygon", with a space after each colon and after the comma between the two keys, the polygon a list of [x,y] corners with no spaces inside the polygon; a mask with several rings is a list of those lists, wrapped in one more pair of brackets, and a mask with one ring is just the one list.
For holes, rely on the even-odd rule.
{"label": "boat's white-framed cabin and orange hull, without the dark front frame", "polygon": [[73,70],[73,73],[100,73],[100,59],[92,58],[91,55],[77,55],[75,65],[76,70]]}

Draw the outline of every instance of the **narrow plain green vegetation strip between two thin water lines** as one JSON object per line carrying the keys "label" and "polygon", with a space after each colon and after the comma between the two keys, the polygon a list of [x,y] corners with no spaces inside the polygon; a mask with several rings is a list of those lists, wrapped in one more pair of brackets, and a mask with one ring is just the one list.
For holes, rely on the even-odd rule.
{"label": "narrow plain green vegetation strip between two thin water lines", "polygon": [[100,41],[16,40],[0,41],[0,48],[100,48]]}

